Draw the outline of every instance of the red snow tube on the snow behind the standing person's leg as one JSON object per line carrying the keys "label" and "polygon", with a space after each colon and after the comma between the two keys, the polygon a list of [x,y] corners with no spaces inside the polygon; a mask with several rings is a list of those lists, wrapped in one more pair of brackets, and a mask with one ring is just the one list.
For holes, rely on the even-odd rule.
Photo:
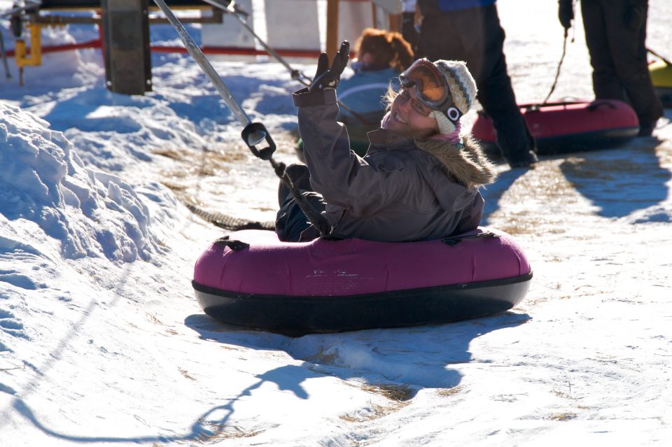
{"label": "red snow tube on the snow behind the standing person's leg", "polygon": [[[519,106],[537,141],[539,155],[613,148],[639,132],[635,111],[623,101],[556,102]],[[499,155],[492,119],[479,111],[472,135],[490,155]]]}

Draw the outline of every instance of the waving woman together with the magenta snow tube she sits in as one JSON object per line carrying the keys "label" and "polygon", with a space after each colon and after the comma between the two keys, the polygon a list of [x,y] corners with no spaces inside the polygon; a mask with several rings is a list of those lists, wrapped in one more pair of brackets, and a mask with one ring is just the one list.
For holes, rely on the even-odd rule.
{"label": "waving woman together with the magenta snow tube she sits in", "polygon": [[476,95],[466,65],[414,62],[360,157],[337,121],[348,53],[343,43],[331,67],[323,54],[311,87],[293,95],[307,165],[285,171],[297,197],[280,190],[276,233],[246,230],[213,243],[195,267],[200,305],[218,320],[288,334],[512,308],[532,273],[510,237],[478,228],[479,187],[496,174],[460,134]]}

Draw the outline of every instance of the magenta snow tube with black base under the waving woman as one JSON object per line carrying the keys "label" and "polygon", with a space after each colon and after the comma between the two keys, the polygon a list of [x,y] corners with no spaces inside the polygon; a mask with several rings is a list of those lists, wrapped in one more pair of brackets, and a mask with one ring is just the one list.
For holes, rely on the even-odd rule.
{"label": "magenta snow tube with black base under the waving woman", "polygon": [[289,334],[437,324],[507,311],[532,271],[494,229],[436,241],[279,241],[243,230],[205,250],[193,287],[223,322]]}

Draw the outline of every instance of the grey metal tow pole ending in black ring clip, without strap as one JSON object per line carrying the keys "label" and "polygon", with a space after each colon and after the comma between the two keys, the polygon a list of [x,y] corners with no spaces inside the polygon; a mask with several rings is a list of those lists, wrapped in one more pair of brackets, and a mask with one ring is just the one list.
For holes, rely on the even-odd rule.
{"label": "grey metal tow pole ending in black ring clip, without strap", "polygon": [[[217,92],[220,94],[222,99],[224,99],[226,105],[229,106],[235,117],[238,119],[241,125],[244,126],[241,136],[243,138],[243,141],[245,141],[246,145],[248,146],[248,148],[250,148],[252,153],[257,157],[259,157],[260,159],[270,159],[273,155],[273,152],[275,152],[275,143],[271,138],[271,136],[268,134],[266,127],[262,125],[262,123],[260,122],[251,122],[251,120],[248,118],[245,111],[240,106],[238,101],[235,99],[231,91],[224,84],[222,78],[219,77],[218,73],[215,71],[213,66],[205,57],[201,49],[198,48],[198,45],[196,45],[194,39],[189,35],[187,30],[183,27],[183,25],[180,23],[177,17],[175,17],[173,11],[168,7],[165,1],[154,0],[154,3],[156,3],[156,5],[166,15],[170,24],[172,24],[172,26],[178,32],[182,40],[182,43],[184,43],[184,46],[191,55],[191,57],[194,58],[196,63],[208,76],[208,78],[215,86]],[[258,149],[256,146],[262,143],[262,141],[266,141],[268,146],[262,149]]]}

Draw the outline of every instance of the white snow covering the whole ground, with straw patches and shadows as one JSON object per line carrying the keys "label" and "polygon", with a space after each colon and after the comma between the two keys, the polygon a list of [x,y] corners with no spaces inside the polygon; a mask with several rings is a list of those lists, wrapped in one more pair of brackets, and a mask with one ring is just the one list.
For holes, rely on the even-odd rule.
{"label": "white snow covering the whole ground, with straw patches and shadows", "polygon": [[[562,48],[556,2],[498,8],[518,100],[540,101]],[[663,54],[671,13],[650,1],[647,43]],[[43,41],[96,32],[45,29]],[[580,24],[573,34],[552,99],[591,97]],[[176,33],[154,27],[152,39],[175,44]],[[262,58],[213,65],[270,130],[276,159],[294,161],[300,85]],[[314,61],[294,65],[314,71]],[[669,109],[652,138],[498,167],[484,224],[516,237],[535,274],[512,311],[290,338],[223,325],[195,301],[193,264],[222,230],[185,204],[272,220],[277,180],[190,57],[153,55],[153,92],[132,97],[106,90],[94,50],[44,55],[24,87],[10,71],[0,83],[0,445],[672,438]]]}

